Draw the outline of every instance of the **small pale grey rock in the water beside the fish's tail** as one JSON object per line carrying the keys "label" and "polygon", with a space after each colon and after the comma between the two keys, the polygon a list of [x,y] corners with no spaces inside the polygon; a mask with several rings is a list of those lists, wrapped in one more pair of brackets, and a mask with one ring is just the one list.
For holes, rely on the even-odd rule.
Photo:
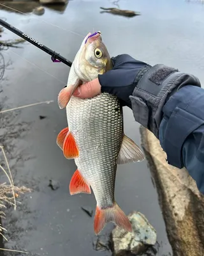
{"label": "small pale grey rock in the water beside the fish's tail", "polygon": [[147,246],[156,244],[156,230],[145,216],[140,212],[132,212],[128,215],[133,227],[133,233],[115,227],[112,231],[112,243],[114,255],[123,256],[127,252],[137,255],[146,250]]}

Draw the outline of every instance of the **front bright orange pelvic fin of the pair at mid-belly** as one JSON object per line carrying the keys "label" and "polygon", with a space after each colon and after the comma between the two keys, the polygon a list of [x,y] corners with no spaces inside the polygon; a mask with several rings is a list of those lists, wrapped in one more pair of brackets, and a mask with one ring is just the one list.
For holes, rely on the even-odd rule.
{"label": "front bright orange pelvic fin of the pair at mid-belly", "polygon": [[78,147],[71,132],[68,132],[64,139],[63,153],[67,159],[75,159],[79,156]]}

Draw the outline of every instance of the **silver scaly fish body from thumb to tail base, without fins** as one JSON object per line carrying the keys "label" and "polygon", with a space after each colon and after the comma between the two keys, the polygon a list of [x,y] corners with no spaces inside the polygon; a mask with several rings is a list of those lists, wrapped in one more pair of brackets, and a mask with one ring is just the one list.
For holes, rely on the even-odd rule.
{"label": "silver scaly fish body from thumb to tail base, without fins", "polygon": [[109,93],[85,100],[71,97],[66,107],[69,131],[80,152],[75,163],[101,208],[114,202],[116,159],[123,136],[120,109],[117,97]]}

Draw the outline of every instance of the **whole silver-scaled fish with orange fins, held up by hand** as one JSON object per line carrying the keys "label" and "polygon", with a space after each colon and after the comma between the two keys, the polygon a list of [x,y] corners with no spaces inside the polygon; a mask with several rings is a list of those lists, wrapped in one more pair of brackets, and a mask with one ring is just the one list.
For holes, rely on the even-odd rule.
{"label": "whole silver-scaled fish with orange fins, held up by hand", "polygon": [[124,134],[122,104],[115,95],[103,92],[90,99],[73,96],[78,86],[112,68],[101,32],[88,33],[69,70],[67,86],[58,95],[59,108],[66,108],[68,127],[59,132],[57,145],[64,157],[74,159],[77,166],[69,193],[91,194],[92,189],[96,198],[96,235],[110,221],[133,232],[128,216],[115,202],[117,164],[145,159],[140,147]]}

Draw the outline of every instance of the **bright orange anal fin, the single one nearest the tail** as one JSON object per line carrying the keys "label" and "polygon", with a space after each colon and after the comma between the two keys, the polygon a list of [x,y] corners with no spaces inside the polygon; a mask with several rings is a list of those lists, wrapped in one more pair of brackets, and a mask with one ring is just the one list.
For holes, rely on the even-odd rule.
{"label": "bright orange anal fin, the single one nearest the tail", "polygon": [[91,194],[91,188],[87,181],[84,179],[80,171],[77,169],[76,172],[71,177],[69,184],[70,195],[75,195],[79,193]]}

